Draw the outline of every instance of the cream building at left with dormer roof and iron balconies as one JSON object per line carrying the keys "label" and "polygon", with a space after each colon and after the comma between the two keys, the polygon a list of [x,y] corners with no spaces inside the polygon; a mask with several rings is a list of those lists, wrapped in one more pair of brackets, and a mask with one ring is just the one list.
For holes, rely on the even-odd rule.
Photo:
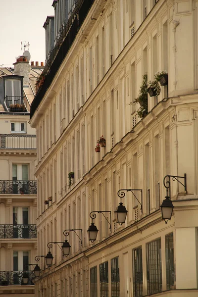
{"label": "cream building at left with dormer roof and iron balconies", "polygon": [[[40,66],[41,67],[41,66]],[[36,131],[30,104],[44,67],[0,68],[0,296],[33,297],[37,255]],[[28,283],[23,284],[23,272]]]}

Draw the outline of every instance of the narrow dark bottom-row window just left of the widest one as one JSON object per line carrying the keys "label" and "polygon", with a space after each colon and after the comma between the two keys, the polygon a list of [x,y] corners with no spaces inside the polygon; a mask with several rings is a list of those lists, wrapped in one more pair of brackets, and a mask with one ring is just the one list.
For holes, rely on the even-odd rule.
{"label": "narrow dark bottom-row window just left of the widest one", "polygon": [[142,247],[133,249],[133,296],[143,296]]}

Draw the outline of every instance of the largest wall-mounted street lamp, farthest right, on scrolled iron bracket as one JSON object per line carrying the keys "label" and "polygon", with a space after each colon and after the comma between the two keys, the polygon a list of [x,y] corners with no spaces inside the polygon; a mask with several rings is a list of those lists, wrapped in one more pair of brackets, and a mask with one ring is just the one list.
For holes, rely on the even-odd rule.
{"label": "largest wall-mounted street lamp, farthest right, on scrolled iron bracket", "polygon": [[[168,179],[167,179],[168,178]],[[163,184],[164,184],[164,187],[166,188],[166,196],[163,201],[162,201],[162,204],[160,205],[160,208],[161,208],[161,216],[162,216],[162,219],[164,220],[164,222],[167,224],[168,220],[171,219],[172,217],[172,213],[173,213],[173,203],[170,199],[170,196],[171,196],[171,178],[173,181],[178,181],[183,187],[184,187],[184,191],[185,193],[187,193],[187,181],[186,181],[186,173],[184,174],[184,176],[174,176],[174,175],[166,175],[164,177],[164,180],[163,180]],[[179,181],[179,178],[183,178],[184,179],[184,184],[182,184],[180,181]],[[169,189],[169,196],[168,196],[168,189]]]}

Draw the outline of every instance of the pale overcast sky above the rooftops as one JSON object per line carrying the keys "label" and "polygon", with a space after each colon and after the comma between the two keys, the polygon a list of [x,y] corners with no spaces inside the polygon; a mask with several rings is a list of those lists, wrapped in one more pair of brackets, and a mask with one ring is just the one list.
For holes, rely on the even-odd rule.
{"label": "pale overcast sky above the rooftops", "polygon": [[52,0],[0,0],[0,67],[10,67],[29,42],[31,61],[45,62],[44,22],[54,14]]}

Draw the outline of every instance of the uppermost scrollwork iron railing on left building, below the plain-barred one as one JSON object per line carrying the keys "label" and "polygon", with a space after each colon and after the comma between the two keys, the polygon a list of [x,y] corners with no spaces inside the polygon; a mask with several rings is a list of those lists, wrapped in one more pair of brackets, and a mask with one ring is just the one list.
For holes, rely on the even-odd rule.
{"label": "uppermost scrollwork iron railing on left building, below the plain-barred one", "polygon": [[0,194],[36,195],[37,181],[0,181]]}

